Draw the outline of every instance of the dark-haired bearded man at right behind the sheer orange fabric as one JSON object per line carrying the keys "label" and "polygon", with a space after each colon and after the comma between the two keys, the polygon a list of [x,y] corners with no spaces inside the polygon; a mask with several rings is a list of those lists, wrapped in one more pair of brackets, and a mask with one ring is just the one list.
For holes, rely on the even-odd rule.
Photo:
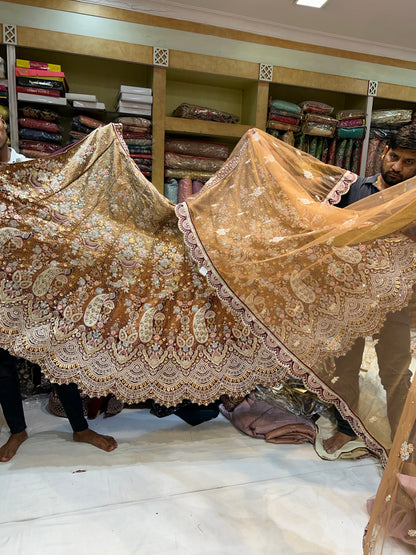
{"label": "dark-haired bearded man at right behind the sheer orange fabric", "polygon": [[[406,125],[392,135],[389,146],[383,154],[381,173],[372,177],[359,177],[349,191],[337,204],[344,208],[367,196],[383,189],[397,185],[416,175],[416,125]],[[393,403],[395,396],[406,398],[410,386],[410,313],[409,309],[387,314],[384,326],[375,337],[375,346],[379,375],[387,396],[387,414],[391,433],[394,436],[399,419],[401,406]],[[337,369],[337,391],[344,393],[351,408],[358,408],[359,372],[365,347],[365,339],[358,338],[351,350],[335,360]],[[348,383],[343,377],[348,376]],[[396,410],[395,408],[396,407]],[[328,453],[335,453],[347,442],[356,438],[351,428],[340,413],[336,411],[338,431],[323,442]]]}

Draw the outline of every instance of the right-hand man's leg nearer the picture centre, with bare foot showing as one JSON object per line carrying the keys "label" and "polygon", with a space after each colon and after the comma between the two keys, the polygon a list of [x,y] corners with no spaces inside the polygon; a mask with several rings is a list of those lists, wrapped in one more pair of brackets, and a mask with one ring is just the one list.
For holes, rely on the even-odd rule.
{"label": "right-hand man's leg nearer the picture centre, with bare foot showing", "polygon": [[[365,339],[359,337],[347,354],[335,359],[336,367],[336,390],[341,397],[347,401],[354,410],[358,407],[360,396],[360,368],[364,353]],[[337,419],[337,432],[323,441],[327,453],[335,453],[349,441],[356,439],[356,434],[349,423],[335,409]]]}

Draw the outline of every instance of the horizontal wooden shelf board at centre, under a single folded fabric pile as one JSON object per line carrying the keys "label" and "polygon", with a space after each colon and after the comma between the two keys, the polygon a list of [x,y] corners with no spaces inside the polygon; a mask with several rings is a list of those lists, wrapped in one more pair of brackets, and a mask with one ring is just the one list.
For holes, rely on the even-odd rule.
{"label": "horizontal wooden shelf board at centre, under a single folded fabric pile", "polygon": [[215,137],[242,137],[246,131],[251,129],[250,125],[239,123],[221,123],[217,121],[205,121],[197,119],[165,118],[165,131],[173,133],[192,133],[194,135],[209,135]]}

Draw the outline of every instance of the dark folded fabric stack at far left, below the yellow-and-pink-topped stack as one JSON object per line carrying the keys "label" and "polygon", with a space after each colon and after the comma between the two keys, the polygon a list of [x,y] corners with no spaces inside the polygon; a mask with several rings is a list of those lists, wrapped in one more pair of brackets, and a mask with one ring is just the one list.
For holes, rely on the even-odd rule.
{"label": "dark folded fabric stack at far left, below the yellow-and-pink-topped stack", "polygon": [[19,150],[28,158],[44,158],[62,148],[59,116],[47,108],[19,110]]}

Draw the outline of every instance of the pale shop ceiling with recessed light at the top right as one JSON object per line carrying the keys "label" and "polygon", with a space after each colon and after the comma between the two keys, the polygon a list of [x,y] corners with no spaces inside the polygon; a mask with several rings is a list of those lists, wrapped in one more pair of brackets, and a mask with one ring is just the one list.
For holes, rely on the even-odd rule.
{"label": "pale shop ceiling with recessed light at the top right", "polygon": [[416,61],[416,0],[79,0],[401,60]]}

